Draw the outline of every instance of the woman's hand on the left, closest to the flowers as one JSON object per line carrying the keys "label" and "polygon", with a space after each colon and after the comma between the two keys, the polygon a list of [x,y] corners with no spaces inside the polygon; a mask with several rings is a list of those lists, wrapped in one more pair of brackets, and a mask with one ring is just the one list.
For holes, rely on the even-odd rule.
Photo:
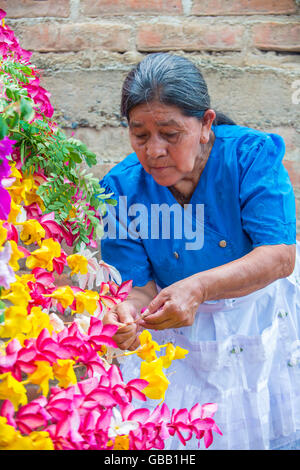
{"label": "woman's hand on the left, closest to the flowers", "polygon": [[135,323],[139,316],[140,313],[130,300],[121,302],[104,315],[103,324],[118,326],[113,340],[120,349],[134,351],[140,345],[138,325]]}

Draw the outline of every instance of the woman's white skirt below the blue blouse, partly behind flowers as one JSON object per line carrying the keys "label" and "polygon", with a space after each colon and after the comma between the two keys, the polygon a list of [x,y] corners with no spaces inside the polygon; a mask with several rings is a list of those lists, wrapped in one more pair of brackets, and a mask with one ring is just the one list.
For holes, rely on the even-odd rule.
{"label": "woman's white skirt below the blue blouse, partly behind flowers", "polygon": [[[300,438],[298,243],[289,277],[244,297],[201,304],[191,327],[150,331],[159,344],[172,342],[189,350],[166,371],[168,407],[218,404],[214,419],[223,435],[214,433],[209,449],[276,449]],[[126,358],[121,364],[125,380],[139,376],[140,363],[135,355]],[[149,400],[149,408],[157,404]],[[135,405],[145,407],[143,402]],[[183,447],[173,438],[166,446],[184,448],[197,450],[198,441]]]}

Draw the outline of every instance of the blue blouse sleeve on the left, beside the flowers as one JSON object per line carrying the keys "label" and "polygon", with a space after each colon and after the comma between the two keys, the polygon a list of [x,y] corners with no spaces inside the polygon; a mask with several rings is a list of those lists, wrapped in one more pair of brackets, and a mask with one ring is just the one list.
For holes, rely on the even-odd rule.
{"label": "blue blouse sleeve on the left, beside the flowers", "polygon": [[104,177],[100,185],[106,193],[114,193],[112,197],[117,200],[117,206],[107,205],[103,217],[101,257],[119,271],[122,281],[132,280],[133,286],[144,286],[153,280],[152,267],[140,236],[133,233],[125,207],[126,196],[120,197],[108,178]]}

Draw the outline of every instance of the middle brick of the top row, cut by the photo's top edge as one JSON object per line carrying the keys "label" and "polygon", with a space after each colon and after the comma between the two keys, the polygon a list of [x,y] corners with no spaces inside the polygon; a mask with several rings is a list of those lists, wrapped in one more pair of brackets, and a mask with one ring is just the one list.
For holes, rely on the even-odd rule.
{"label": "middle brick of the top row, cut by the photo's top edge", "polygon": [[124,15],[134,13],[180,14],[180,0],[83,0],[82,12],[87,16]]}

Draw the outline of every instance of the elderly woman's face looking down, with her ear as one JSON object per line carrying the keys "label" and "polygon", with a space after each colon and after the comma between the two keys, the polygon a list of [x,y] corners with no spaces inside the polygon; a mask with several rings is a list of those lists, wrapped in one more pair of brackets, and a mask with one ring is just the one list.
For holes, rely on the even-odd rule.
{"label": "elderly woman's face looking down, with her ear", "polygon": [[132,148],[158,184],[173,186],[193,179],[214,117],[214,111],[208,110],[200,121],[157,101],[137,105],[129,113]]}

